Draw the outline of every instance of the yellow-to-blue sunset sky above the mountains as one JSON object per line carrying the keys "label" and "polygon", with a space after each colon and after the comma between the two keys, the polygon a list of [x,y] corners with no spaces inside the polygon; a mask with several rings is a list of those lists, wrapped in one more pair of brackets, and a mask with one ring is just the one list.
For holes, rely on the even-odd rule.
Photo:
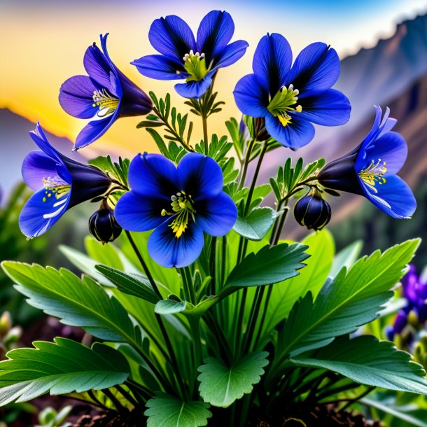
{"label": "yellow-to-blue sunset sky above the mountains", "polygon": [[[224,121],[239,117],[232,90],[239,78],[251,73],[253,52],[267,32],[286,36],[294,57],[314,41],[332,45],[344,57],[391,36],[398,22],[426,13],[427,0],[0,0],[0,108],[34,123],[39,120],[50,132],[74,141],[85,123],[62,111],[59,87],[67,78],[85,73],[85,49],[98,41],[99,34],[109,32],[113,62],[146,92],[153,90],[160,97],[171,92],[173,104],[186,109],[174,92],[174,82],[141,76],[130,62],[155,53],[148,42],[155,18],[176,14],[197,31],[200,20],[212,9],[227,10],[235,21],[232,40],[243,38],[250,45],[237,64],[218,75],[218,98],[227,106],[209,126],[223,134]],[[135,129],[139,120],[118,120],[95,143],[96,148],[129,155],[153,151],[146,131]],[[201,136],[201,125],[194,120],[195,137]]]}

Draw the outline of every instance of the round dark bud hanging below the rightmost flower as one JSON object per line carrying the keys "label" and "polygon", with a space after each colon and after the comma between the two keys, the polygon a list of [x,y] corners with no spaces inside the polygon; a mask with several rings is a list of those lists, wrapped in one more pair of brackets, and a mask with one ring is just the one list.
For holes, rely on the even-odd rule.
{"label": "round dark bud hanging below the rightmost flower", "polygon": [[328,202],[322,199],[317,190],[302,197],[293,208],[297,222],[309,230],[321,230],[329,223],[331,214]]}

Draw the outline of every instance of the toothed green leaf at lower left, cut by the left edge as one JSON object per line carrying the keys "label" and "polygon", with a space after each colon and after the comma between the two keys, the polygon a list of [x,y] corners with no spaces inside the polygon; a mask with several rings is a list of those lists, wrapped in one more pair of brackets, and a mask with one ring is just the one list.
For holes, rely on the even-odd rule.
{"label": "toothed green leaf at lower left, cut by the left edge", "polygon": [[0,362],[0,405],[51,395],[101,390],[123,384],[130,374],[125,356],[104,344],[92,349],[71,339],[36,341],[34,349],[9,351]]}

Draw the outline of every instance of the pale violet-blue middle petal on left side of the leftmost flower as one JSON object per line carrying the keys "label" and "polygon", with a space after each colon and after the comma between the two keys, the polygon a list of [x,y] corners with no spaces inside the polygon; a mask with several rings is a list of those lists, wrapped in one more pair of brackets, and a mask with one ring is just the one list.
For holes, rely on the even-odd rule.
{"label": "pale violet-blue middle petal on left side of the leftmost flower", "polygon": [[57,174],[57,160],[41,151],[31,151],[22,162],[22,178],[31,190],[40,190],[43,179],[55,178]]}

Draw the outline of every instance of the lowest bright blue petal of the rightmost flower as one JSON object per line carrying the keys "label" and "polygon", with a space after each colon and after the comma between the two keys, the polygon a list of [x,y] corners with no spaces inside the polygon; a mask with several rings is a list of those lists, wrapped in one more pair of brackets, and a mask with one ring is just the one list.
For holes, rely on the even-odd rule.
{"label": "lowest bright blue petal of the rightmost flower", "polygon": [[372,192],[361,179],[360,183],[367,199],[386,214],[393,218],[410,218],[414,214],[414,194],[399,176],[388,176],[384,184],[375,186],[378,193]]}

